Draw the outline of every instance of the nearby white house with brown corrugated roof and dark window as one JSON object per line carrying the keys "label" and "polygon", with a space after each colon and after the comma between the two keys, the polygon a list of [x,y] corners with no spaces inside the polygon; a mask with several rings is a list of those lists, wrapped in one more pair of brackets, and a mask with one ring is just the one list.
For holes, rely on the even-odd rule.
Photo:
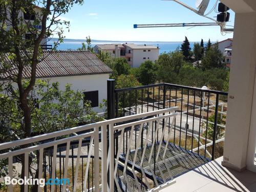
{"label": "nearby white house with brown corrugated roof and dark window", "polygon": [[[30,71],[31,67],[24,69],[24,78],[29,78]],[[12,70],[14,74],[17,72],[15,68]],[[37,65],[36,78],[59,82],[62,91],[66,84],[71,84],[72,90],[82,91],[84,99],[91,101],[93,110],[100,113],[103,110],[99,106],[106,99],[106,83],[111,73],[105,63],[87,50],[44,51],[44,59]],[[11,75],[8,72],[0,74],[0,79],[8,80]]]}

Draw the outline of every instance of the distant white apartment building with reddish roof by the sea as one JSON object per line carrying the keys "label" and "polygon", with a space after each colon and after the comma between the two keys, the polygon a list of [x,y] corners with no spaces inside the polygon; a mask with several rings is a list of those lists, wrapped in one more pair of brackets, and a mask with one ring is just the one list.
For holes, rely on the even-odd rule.
{"label": "distant white apartment building with reddish roof by the sea", "polygon": [[104,44],[96,45],[95,53],[108,52],[112,57],[123,57],[131,67],[138,68],[146,60],[155,61],[159,57],[159,48],[151,45],[135,44]]}

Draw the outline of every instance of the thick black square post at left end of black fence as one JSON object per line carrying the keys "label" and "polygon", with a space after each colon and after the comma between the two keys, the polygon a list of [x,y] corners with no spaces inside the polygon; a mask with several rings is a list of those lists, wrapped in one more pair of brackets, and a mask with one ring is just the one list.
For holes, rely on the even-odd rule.
{"label": "thick black square post at left end of black fence", "polygon": [[115,118],[115,79],[108,79],[107,83],[108,119]]}

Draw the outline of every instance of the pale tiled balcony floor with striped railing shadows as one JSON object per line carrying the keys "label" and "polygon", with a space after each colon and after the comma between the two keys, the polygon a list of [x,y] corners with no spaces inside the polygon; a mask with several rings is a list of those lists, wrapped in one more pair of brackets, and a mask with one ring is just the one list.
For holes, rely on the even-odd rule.
{"label": "pale tiled balcony floor with striped railing shadows", "polygon": [[256,173],[249,170],[239,173],[226,168],[221,165],[222,159],[220,157],[177,177],[175,185],[160,191],[256,191]]}

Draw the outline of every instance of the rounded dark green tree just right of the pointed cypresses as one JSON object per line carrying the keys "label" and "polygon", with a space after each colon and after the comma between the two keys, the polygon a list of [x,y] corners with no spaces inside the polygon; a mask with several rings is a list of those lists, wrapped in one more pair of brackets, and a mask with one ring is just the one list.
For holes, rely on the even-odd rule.
{"label": "rounded dark green tree just right of the pointed cypresses", "polygon": [[218,46],[212,46],[202,58],[201,66],[204,70],[211,68],[225,68],[224,56]]}

